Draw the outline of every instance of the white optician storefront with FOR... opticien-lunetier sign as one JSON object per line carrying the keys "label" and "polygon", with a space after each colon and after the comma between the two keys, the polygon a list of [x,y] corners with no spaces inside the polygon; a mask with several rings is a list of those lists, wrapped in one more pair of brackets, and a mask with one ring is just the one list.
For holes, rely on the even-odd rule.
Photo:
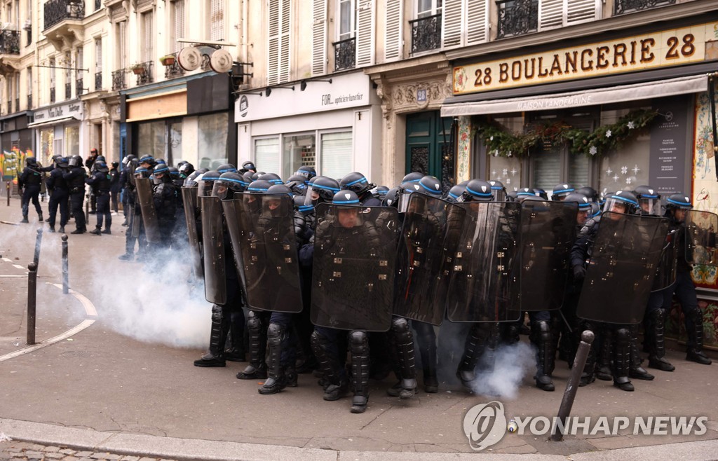
{"label": "white optician storefront with FOR... opticien-lunetier sign", "polygon": [[381,177],[381,108],[363,72],[246,92],[236,102],[238,159],[286,179],[300,166]]}

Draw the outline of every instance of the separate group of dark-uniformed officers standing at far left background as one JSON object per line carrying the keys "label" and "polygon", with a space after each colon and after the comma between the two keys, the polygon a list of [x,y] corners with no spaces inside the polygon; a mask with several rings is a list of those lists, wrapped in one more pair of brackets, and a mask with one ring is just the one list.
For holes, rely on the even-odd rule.
{"label": "separate group of dark-uniformed officers standing at far left background", "polygon": [[[22,193],[22,223],[28,223],[29,204],[32,202],[37,212],[37,220],[43,222],[42,207],[39,204],[40,194],[49,196],[48,232],[55,232],[57,209],[60,209],[60,233],[65,232],[65,225],[70,216],[75,220],[75,230],[70,234],[88,232],[85,219],[85,196],[91,209],[88,214],[95,214],[97,223],[90,234],[111,234],[112,212],[118,212],[118,193],[120,191],[120,171],[117,162],[111,166],[97,149],[90,151],[85,159],[79,155],[62,157],[52,156],[50,166],[42,166],[34,157],[25,158],[25,168],[18,178],[18,186]],[[89,172],[89,173],[88,173]],[[88,187],[86,187],[88,186]]]}

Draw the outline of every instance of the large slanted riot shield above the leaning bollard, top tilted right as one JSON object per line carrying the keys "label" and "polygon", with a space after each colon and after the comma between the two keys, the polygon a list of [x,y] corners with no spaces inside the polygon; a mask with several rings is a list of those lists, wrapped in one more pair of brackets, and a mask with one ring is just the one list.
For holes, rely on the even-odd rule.
{"label": "large slanted riot shield above the leaning bollard, top tilted right", "polygon": [[640,323],[668,219],[605,212],[599,225],[577,315],[605,323]]}

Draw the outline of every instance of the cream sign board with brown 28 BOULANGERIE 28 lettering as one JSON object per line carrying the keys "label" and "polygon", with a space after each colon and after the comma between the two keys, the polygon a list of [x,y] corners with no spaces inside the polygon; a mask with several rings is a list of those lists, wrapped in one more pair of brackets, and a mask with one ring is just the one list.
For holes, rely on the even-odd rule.
{"label": "cream sign board with brown 28 BOULANGERIE 28 lettering", "polygon": [[454,67],[454,95],[715,59],[718,22]]}

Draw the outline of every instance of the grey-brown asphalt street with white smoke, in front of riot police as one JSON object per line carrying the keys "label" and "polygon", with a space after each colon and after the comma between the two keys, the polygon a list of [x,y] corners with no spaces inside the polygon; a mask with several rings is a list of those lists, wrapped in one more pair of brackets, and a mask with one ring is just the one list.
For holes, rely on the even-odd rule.
{"label": "grey-brown asphalt street with white smoke, in front of riot police", "polygon": [[[323,401],[311,374],[299,375],[296,388],[263,396],[257,381],[235,378],[246,363],[192,366],[208,343],[210,303],[193,284],[187,258],[119,261],[126,229],[121,214],[113,217],[111,235],[68,236],[66,295],[60,234],[42,234],[37,344],[28,346],[27,265],[43,225],[32,207],[30,224],[17,224],[21,218],[19,199],[6,206],[0,196],[0,459],[463,459],[475,455],[465,417],[476,405],[500,402],[505,421],[492,421],[504,425],[558,412],[569,369],[557,361],[556,391],[536,389],[525,336],[521,346],[500,354],[501,365],[476,393],[460,389],[448,366],[439,393],[426,394],[419,380],[419,393],[400,401],[386,394],[394,382],[389,376],[370,382],[363,414],[349,412],[350,398]],[[88,229],[94,223],[90,216]],[[67,225],[67,232],[73,229]],[[447,348],[463,341],[456,325],[442,325],[439,335]],[[455,361],[455,354],[447,351],[445,361]],[[526,424],[523,434],[506,432],[482,453],[502,459],[717,459],[718,365],[684,358],[683,346],[669,344],[676,371],[649,370],[656,379],[634,380],[635,392],[610,381],[578,390],[572,415],[593,422],[606,417],[610,424],[625,419],[626,427],[603,430],[591,423],[587,434],[579,430],[551,442]],[[635,420],[648,417],[704,417],[704,430],[694,424],[672,434],[668,422],[667,434],[636,431]],[[480,424],[473,428],[482,432]],[[533,429],[541,432],[541,424]]]}

